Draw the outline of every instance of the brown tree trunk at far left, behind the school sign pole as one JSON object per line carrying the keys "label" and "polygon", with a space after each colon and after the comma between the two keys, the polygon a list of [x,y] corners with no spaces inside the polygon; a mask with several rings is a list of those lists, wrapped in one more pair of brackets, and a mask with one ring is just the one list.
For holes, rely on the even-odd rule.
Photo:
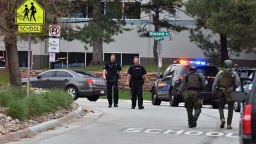
{"label": "brown tree trunk at far left, behind the school sign pole", "polygon": [[9,29],[9,34],[4,35],[4,44],[8,58],[10,85],[21,87],[20,66],[17,50],[17,35],[13,34],[15,33],[14,31],[17,31],[17,25],[15,25],[14,19],[15,17],[12,17],[12,15],[5,17],[6,26]]}

